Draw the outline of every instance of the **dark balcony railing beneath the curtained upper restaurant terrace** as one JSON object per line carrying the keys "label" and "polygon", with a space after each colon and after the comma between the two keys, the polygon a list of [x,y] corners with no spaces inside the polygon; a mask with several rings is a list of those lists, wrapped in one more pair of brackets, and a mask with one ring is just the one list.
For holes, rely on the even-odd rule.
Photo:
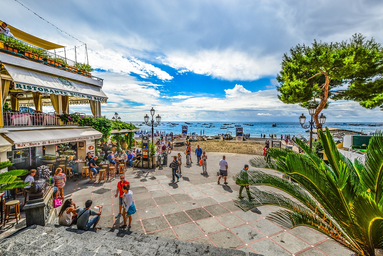
{"label": "dark balcony railing beneath the curtained upper restaurant terrace", "polygon": [[[96,117],[85,116],[84,117]],[[4,127],[20,127],[20,126],[73,126],[78,125],[77,122],[63,122],[54,113],[19,113],[4,112]]]}

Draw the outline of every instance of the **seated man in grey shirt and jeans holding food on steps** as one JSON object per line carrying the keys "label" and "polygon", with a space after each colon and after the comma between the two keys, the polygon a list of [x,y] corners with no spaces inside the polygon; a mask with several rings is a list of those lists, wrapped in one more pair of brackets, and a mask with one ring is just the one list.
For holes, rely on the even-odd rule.
{"label": "seated man in grey shirt and jeans holding food on steps", "polygon": [[[98,213],[90,210],[90,207],[92,207],[92,200],[87,200],[85,202],[85,208],[79,207],[76,209],[77,213],[77,228],[79,230],[88,231],[90,226],[93,225],[93,228],[101,229],[101,227],[96,227],[98,221],[100,220],[101,216],[101,209],[102,205],[100,205],[100,209],[98,210]],[[89,219],[90,216],[94,216],[93,218]]]}

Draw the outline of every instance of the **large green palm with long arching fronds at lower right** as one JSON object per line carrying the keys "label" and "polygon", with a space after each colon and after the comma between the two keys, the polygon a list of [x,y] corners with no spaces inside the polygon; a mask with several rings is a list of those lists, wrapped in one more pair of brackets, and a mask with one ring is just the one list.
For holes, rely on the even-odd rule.
{"label": "large green palm with long arching fronds at lower right", "polygon": [[299,202],[271,191],[253,190],[254,199],[234,203],[244,211],[261,205],[286,208],[270,213],[268,219],[288,228],[314,228],[356,255],[373,256],[375,249],[383,249],[382,133],[370,139],[364,164],[352,163],[340,154],[328,129],[326,134],[319,130],[319,137],[328,165],[300,140],[296,143],[306,154],[272,148],[268,150],[271,161],[261,157],[249,161],[255,168],[282,172],[298,184],[258,169],[248,171],[248,178],[234,176],[238,185],[275,187]]}

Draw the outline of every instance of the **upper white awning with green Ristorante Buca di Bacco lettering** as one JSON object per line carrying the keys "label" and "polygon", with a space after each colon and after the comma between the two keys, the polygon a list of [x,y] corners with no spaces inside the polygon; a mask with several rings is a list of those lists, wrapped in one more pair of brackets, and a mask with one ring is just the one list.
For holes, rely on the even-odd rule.
{"label": "upper white awning with green Ristorante Buca di Bacco lettering", "polygon": [[75,80],[68,80],[59,76],[18,68],[3,64],[15,84],[14,89],[41,92],[48,94],[67,95],[84,100],[106,102],[108,97],[100,87],[81,83]]}

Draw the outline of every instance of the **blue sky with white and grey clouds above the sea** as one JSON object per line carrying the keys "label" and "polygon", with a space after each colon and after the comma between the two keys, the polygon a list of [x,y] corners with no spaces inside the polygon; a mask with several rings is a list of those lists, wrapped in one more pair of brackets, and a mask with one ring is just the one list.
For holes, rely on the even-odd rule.
{"label": "blue sky with white and grey clouds above the sea", "polygon": [[[87,58],[75,38],[86,43],[109,97],[102,114],[128,122],[151,107],[163,121],[297,122],[308,111],[279,101],[275,89],[284,53],[354,33],[383,43],[378,0],[18,1],[71,36],[15,0],[2,1],[1,20],[67,46],[78,62]],[[88,105],[70,111],[91,113]],[[383,111],[357,102],[332,102],[322,113],[326,122],[383,122]]]}

